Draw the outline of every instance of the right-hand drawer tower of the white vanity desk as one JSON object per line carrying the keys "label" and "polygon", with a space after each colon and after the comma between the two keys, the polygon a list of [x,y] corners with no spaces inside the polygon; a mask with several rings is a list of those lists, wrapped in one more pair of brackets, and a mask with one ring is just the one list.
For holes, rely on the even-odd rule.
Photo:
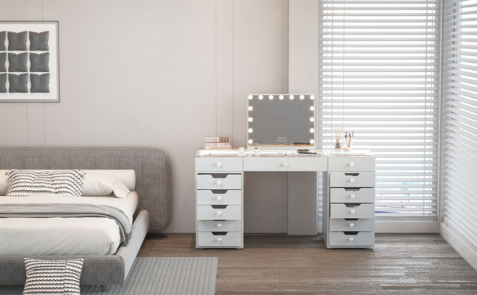
{"label": "right-hand drawer tower of the white vanity desk", "polygon": [[323,173],[323,237],[328,248],[374,247],[374,171],[374,157],[328,159],[328,172]]}

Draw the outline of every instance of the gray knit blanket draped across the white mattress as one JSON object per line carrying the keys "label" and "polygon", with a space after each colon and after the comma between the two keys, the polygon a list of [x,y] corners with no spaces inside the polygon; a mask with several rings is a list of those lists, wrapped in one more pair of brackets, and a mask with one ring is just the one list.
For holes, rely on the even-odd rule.
{"label": "gray knit blanket draped across the white mattress", "polygon": [[132,236],[131,223],[119,208],[93,204],[2,204],[0,218],[53,218],[53,217],[106,217],[119,225],[119,234],[124,245]]}

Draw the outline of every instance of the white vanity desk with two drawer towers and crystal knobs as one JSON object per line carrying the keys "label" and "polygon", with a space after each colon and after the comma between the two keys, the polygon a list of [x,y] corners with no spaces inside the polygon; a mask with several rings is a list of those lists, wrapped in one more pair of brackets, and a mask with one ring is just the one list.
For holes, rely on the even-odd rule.
{"label": "white vanity desk with two drawer towers and crystal knobs", "polygon": [[243,248],[243,174],[248,171],[289,172],[288,235],[315,236],[317,172],[323,171],[327,247],[374,246],[375,158],[369,151],[199,149],[195,169],[198,248]]}

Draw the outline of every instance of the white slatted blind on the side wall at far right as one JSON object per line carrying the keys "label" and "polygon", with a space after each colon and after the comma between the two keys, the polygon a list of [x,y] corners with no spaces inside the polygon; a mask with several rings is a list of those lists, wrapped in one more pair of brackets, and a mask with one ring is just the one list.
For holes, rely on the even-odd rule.
{"label": "white slatted blind on the side wall at far right", "polygon": [[446,18],[444,220],[477,250],[477,0],[447,1]]}

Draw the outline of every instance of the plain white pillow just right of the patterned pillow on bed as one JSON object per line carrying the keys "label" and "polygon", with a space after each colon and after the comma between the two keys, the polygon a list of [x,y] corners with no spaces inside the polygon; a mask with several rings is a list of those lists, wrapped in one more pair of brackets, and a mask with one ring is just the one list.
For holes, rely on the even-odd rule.
{"label": "plain white pillow just right of the patterned pillow on bed", "polygon": [[124,199],[129,192],[118,178],[104,173],[89,172],[83,181],[83,196],[108,196],[114,193],[116,197]]}

